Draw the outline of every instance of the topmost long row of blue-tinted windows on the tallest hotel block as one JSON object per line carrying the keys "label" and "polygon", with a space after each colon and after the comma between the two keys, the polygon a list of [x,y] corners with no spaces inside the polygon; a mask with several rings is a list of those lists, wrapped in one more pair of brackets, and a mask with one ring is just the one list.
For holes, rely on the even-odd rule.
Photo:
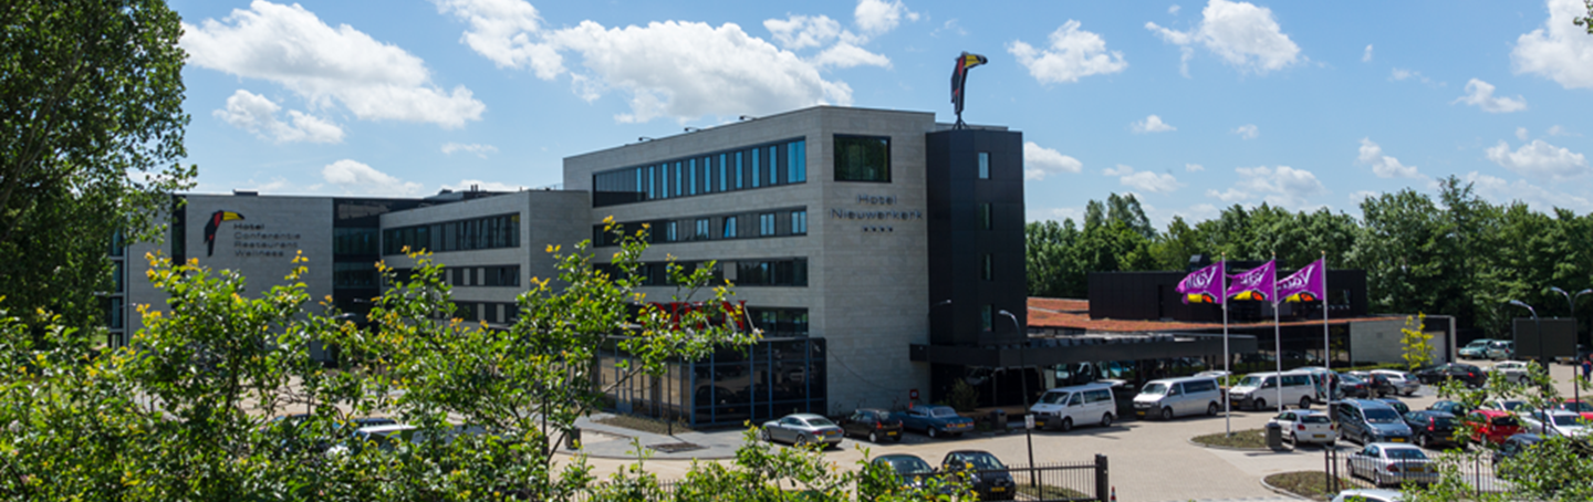
{"label": "topmost long row of blue-tinted windows on the tallest hotel block", "polygon": [[688,198],[806,182],[808,142],[790,140],[596,172],[593,174],[593,206]]}

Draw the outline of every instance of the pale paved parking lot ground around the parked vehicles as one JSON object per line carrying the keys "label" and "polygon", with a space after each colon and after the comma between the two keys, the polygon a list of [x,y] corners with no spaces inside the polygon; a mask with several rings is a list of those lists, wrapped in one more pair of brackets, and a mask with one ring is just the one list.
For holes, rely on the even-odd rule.
{"label": "pale paved parking lot ground around the parked vehicles", "polygon": [[[1489,362],[1470,362],[1491,367]],[[1569,365],[1553,365],[1560,390],[1571,397]],[[1432,387],[1421,387],[1415,397],[1402,398],[1411,410],[1423,410],[1437,397]],[[1321,410],[1322,406],[1313,406]],[[1260,429],[1276,411],[1235,411],[1233,430]],[[1117,488],[1118,500],[1190,500],[1190,499],[1274,499],[1278,494],[1265,489],[1260,480],[1271,473],[1294,470],[1322,470],[1324,454],[1319,446],[1303,446],[1298,451],[1230,451],[1192,445],[1188,440],[1206,433],[1223,432],[1223,416],[1193,416],[1174,421],[1123,419],[1112,427],[1078,427],[1072,432],[1034,432],[1034,462],[1082,462],[1094,454],[1106,454],[1110,462],[1110,484]],[[738,445],[739,430],[703,433],[722,445]],[[588,441],[626,441],[621,438],[591,437]],[[644,440],[644,445],[648,445]],[[961,438],[930,440],[919,433],[906,433],[900,443],[871,445],[854,438],[844,440],[825,456],[843,469],[851,469],[863,457],[857,446],[871,456],[886,453],[910,453],[932,464],[953,449],[984,449],[1005,464],[1029,464],[1029,449],[1021,429],[1012,433],[970,433]],[[1340,454],[1357,446],[1338,443]],[[610,449],[612,451],[612,449]],[[589,459],[599,473],[609,473],[628,464],[623,459]],[[652,459],[650,472],[674,478],[690,469],[690,461]]]}

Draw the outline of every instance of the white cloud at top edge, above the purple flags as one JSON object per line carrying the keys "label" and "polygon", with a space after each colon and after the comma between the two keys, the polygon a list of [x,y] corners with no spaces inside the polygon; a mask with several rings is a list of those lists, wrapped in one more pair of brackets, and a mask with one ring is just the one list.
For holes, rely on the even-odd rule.
{"label": "white cloud at top edge, above the purple flags", "polygon": [[[1239,72],[1265,75],[1301,61],[1300,46],[1282,33],[1273,11],[1249,2],[1211,0],[1201,10],[1200,25],[1188,32],[1164,29],[1155,22],[1145,22],[1145,29],[1185,49],[1200,43]],[[1188,57],[1190,53],[1185,51],[1185,64]]]}

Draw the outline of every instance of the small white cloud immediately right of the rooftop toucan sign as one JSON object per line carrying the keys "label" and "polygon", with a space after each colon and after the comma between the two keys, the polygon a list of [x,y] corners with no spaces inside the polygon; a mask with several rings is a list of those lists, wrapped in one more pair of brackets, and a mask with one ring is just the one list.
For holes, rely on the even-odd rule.
{"label": "small white cloud immediately right of the rooftop toucan sign", "polygon": [[1040,83],[1072,83],[1082,76],[1107,75],[1123,72],[1128,62],[1121,51],[1107,51],[1106,38],[1078,29],[1078,21],[1067,19],[1056,32],[1051,32],[1051,46],[1035,49],[1023,41],[1007,45],[1012,53],[1029,69]]}

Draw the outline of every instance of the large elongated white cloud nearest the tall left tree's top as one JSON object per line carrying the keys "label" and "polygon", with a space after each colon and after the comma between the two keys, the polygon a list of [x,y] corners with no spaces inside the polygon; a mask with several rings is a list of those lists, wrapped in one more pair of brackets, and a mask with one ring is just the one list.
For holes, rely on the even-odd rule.
{"label": "large elongated white cloud nearest the tall left tree's top", "polygon": [[436,88],[421,57],[347,24],[333,29],[298,5],[256,0],[225,22],[185,22],[180,45],[196,67],[276,81],[312,107],[336,102],[360,120],[459,127],[486,110],[465,86]]}

